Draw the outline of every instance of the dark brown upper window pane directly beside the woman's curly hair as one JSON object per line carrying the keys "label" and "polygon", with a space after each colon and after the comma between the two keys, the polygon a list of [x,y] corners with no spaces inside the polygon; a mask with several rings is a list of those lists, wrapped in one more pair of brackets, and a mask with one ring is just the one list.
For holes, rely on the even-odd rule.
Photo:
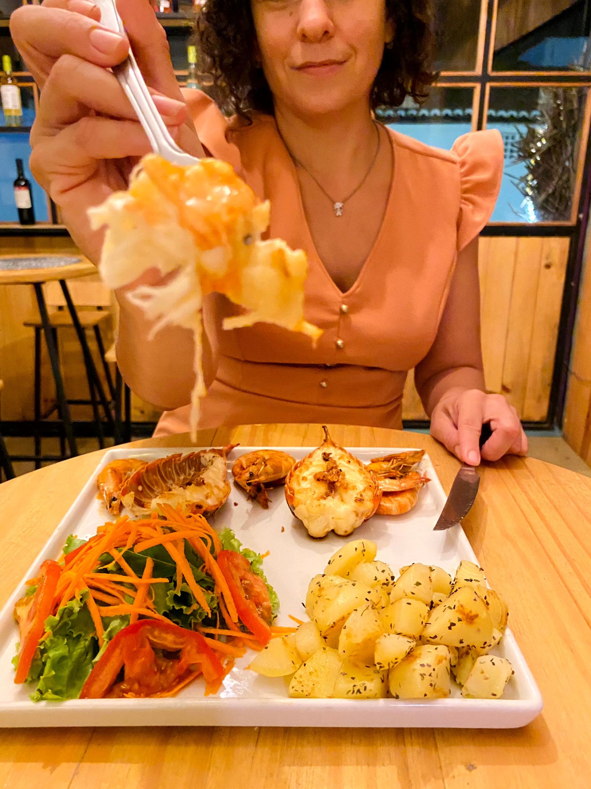
{"label": "dark brown upper window pane directly beside the woman's curly hair", "polygon": [[439,0],[437,61],[439,71],[475,71],[480,0]]}

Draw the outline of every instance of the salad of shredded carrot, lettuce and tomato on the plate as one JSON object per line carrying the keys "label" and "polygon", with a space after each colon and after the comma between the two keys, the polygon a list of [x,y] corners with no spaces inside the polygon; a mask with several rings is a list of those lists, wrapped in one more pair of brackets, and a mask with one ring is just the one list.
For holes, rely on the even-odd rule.
{"label": "salad of shredded carrot, lettuce and tomato on the plate", "polygon": [[271,626],[262,556],[167,504],[70,535],[27,585],[13,664],[33,701],[165,697],[198,676],[215,693],[247,645],[290,630]]}

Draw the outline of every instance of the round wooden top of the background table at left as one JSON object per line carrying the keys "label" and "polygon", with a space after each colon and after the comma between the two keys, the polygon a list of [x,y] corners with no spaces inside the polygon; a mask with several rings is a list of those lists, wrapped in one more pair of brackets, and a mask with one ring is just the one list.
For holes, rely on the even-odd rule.
{"label": "round wooden top of the background table at left", "polygon": [[95,273],[96,266],[83,255],[0,256],[0,285],[29,285]]}

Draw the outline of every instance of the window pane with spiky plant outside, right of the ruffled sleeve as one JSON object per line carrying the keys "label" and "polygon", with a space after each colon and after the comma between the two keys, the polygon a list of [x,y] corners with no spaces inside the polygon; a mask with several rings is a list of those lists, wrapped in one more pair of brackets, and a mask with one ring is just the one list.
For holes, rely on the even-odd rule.
{"label": "window pane with spiky plant outside, right of the ruffled sleeve", "polygon": [[582,155],[588,88],[492,88],[505,170],[492,222],[567,222]]}

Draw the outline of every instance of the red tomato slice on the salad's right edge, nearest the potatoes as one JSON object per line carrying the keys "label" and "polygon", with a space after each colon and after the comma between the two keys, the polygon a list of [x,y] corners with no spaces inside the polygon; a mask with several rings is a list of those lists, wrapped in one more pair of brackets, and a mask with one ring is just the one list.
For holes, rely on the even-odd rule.
{"label": "red tomato slice on the salad's right edge, nearest the potatoes", "polygon": [[259,643],[268,644],[272,611],[265,581],[251,572],[251,563],[236,551],[218,553],[217,565],[228,583],[240,621]]}

